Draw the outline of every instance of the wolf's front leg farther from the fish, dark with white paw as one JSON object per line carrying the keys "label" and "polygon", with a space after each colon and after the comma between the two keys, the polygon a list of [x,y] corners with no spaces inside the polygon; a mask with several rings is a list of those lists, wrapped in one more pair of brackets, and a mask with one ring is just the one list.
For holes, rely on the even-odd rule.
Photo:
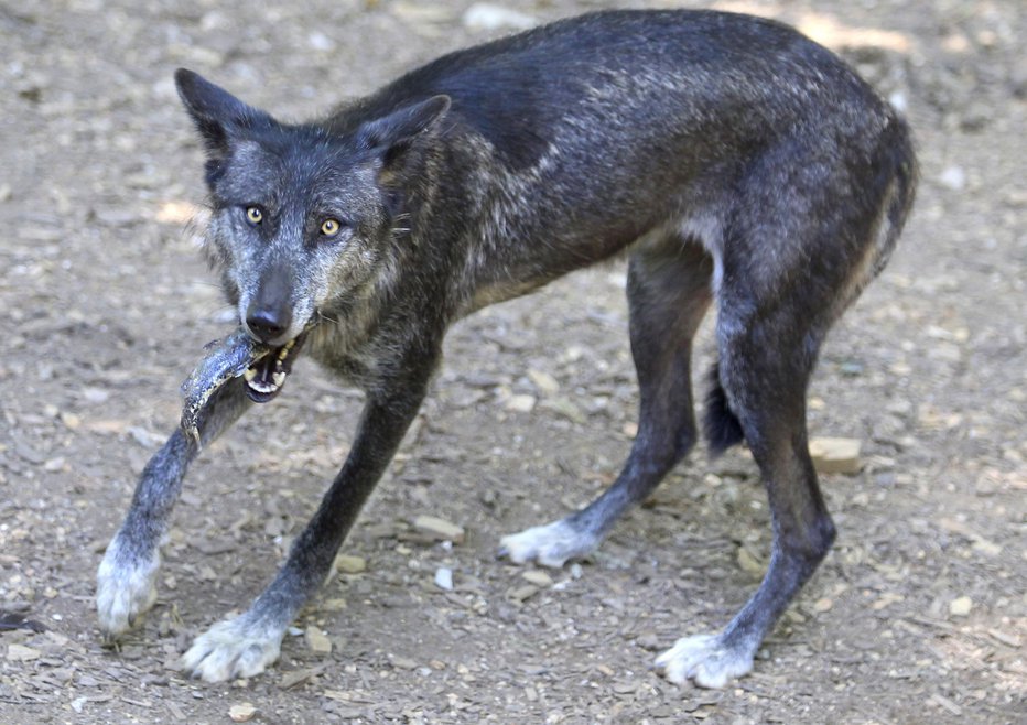
{"label": "wolf's front leg farther from the fish, dark with white paw", "polygon": [[423,375],[390,386],[386,394],[368,396],[345,465],[274,581],[248,610],[199,636],[182,658],[183,670],[220,682],[258,674],[278,659],[287,627],[328,575],[338,548],[421,405],[433,367],[422,362]]}

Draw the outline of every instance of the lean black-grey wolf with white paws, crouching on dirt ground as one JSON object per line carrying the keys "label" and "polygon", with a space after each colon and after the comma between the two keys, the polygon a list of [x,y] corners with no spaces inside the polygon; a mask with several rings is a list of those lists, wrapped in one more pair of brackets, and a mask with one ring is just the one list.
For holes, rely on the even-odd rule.
{"label": "lean black-grey wolf with white paws, crouching on dirt ground", "polygon": [[912,204],[901,118],[839,57],[777,22],[607,11],[444,55],[323,118],[279,121],[190,71],[205,147],[206,253],[245,334],[273,354],[218,389],[198,440],[143,470],[99,566],[109,639],[155,598],[160,542],[199,446],[281,391],[306,354],[366,393],[353,447],[288,559],[242,614],[182,659],[223,681],[263,671],[333,560],[439,369],[446,329],[485,305],[627,257],[638,434],[583,510],[504,538],[514,562],[592,552],[700,437],[692,338],[716,309],[705,437],[744,442],[772,515],[758,589],[656,660],[724,686],[835,538],[806,391],[840,314],[884,267]]}

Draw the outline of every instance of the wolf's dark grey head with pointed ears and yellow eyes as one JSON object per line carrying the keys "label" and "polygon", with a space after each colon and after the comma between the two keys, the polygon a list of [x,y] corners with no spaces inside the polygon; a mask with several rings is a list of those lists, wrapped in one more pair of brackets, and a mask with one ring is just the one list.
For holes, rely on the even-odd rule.
{"label": "wolf's dark grey head with pointed ears and yellow eyes", "polygon": [[175,82],[207,152],[209,257],[250,335],[284,347],[388,268],[408,226],[397,180],[415,173],[450,100],[426,98],[337,134],[281,123],[190,71]]}

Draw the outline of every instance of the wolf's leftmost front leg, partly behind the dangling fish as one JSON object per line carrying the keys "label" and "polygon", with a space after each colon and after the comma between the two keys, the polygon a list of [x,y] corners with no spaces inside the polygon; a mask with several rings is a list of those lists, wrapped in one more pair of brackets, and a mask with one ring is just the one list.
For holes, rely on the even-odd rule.
{"label": "wolf's leftmost front leg, partly behind the dangling fish", "polygon": [[[201,441],[214,441],[248,407],[242,381],[226,385],[199,421]],[[96,610],[108,641],[127,631],[156,599],[161,540],[196,453],[196,444],[176,429],[143,469],[128,515],[107,545],[96,574]]]}

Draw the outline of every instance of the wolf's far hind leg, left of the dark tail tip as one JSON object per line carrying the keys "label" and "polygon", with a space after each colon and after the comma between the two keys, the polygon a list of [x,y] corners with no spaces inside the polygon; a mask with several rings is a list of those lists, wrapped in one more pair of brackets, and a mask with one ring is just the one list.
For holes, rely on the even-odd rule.
{"label": "wolf's far hind leg, left of the dark tail tip", "polygon": [[504,537],[500,553],[562,566],[592,552],[628,508],[644,500],[691,450],[692,337],[710,305],[713,262],[677,236],[644,247],[628,266],[631,354],[638,371],[638,435],[617,480],[587,508]]}

